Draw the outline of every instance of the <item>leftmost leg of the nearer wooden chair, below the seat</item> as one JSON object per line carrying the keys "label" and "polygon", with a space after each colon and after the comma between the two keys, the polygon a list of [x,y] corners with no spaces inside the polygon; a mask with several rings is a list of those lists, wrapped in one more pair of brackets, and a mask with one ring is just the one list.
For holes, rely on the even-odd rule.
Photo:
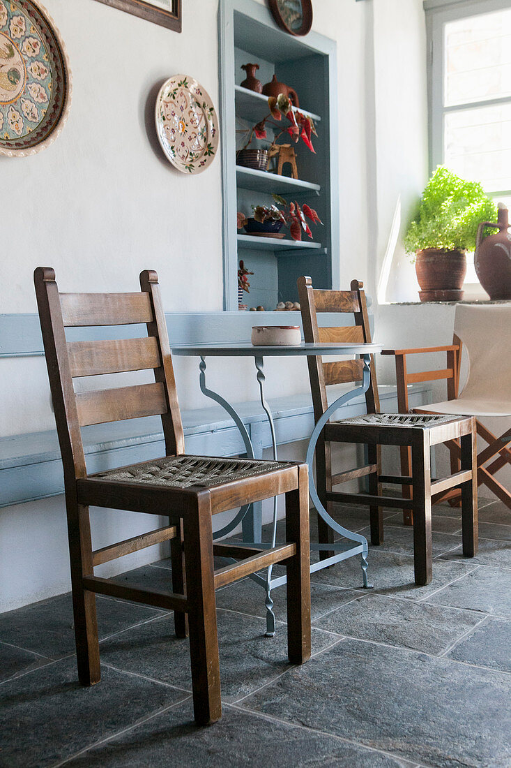
{"label": "leftmost leg of the nearer wooden chair, below the seat", "polygon": [[82,585],[84,576],[94,575],[91,521],[88,507],[68,502],[67,508],[78,679],[82,685],[94,685],[101,680],[96,595]]}

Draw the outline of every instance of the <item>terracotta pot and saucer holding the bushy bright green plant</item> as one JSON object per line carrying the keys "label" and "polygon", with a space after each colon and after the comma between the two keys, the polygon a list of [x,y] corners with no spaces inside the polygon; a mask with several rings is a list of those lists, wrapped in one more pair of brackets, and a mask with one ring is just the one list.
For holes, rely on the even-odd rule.
{"label": "terracotta pot and saucer holding the bushy bright green plant", "polygon": [[460,301],[466,274],[464,250],[417,250],[417,280],[420,301]]}

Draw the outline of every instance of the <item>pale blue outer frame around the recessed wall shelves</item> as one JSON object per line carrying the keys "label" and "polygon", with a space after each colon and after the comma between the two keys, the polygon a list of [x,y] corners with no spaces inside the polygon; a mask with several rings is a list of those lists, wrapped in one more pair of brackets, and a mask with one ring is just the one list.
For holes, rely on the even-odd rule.
{"label": "pale blue outer frame around the recessed wall shelves", "polygon": [[[279,63],[285,69],[285,61],[318,57],[318,78],[314,83],[315,94],[320,94],[321,108],[302,98],[303,108],[312,108],[321,116],[318,126],[320,136],[315,142],[321,160],[321,206],[324,227],[315,240],[321,238],[321,251],[302,251],[296,268],[302,273],[312,271],[318,264],[318,253],[323,255],[324,269],[318,287],[340,288],[340,233],[339,233],[339,159],[338,159],[338,89],[337,46],[335,41],[309,32],[304,38],[295,38],[280,30],[269,9],[254,0],[220,0],[219,13],[219,111],[223,183],[223,274],[224,310],[236,311],[238,306],[238,237],[236,229],[236,65],[235,46],[239,38],[257,39],[259,56],[266,61]],[[255,30],[263,34],[254,36]],[[245,30],[245,31],[244,31]],[[240,44],[241,47],[243,43]],[[253,47],[253,43],[252,43]],[[247,48],[248,49],[248,48]],[[258,55],[254,53],[253,55]],[[239,89],[238,89],[239,90]],[[307,87],[304,85],[304,91]],[[269,191],[271,189],[269,188]],[[316,193],[315,193],[316,194]],[[312,203],[314,205],[314,203]],[[315,206],[314,206],[315,207]],[[318,227],[320,229],[320,227]],[[314,259],[311,269],[305,258]],[[297,251],[298,256],[298,251]]]}

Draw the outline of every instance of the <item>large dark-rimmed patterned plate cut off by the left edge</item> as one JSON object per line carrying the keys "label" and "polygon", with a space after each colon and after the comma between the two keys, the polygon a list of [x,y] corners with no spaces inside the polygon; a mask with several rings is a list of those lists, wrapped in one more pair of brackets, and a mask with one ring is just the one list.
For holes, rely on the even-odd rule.
{"label": "large dark-rimmed patterned plate cut off by the left edge", "polygon": [[0,0],[0,154],[51,144],[71,104],[71,72],[58,31],[32,0]]}

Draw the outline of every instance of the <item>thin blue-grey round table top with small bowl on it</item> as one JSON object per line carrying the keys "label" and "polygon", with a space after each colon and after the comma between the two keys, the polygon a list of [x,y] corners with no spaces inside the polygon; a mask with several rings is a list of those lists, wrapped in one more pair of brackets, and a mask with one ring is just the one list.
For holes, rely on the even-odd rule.
{"label": "thin blue-grey round table top with small bowl on it", "polygon": [[361,343],[310,343],[299,346],[254,346],[249,341],[225,342],[221,344],[176,344],[170,345],[173,355],[206,357],[266,357],[291,355],[372,355],[383,349],[383,344]]}

